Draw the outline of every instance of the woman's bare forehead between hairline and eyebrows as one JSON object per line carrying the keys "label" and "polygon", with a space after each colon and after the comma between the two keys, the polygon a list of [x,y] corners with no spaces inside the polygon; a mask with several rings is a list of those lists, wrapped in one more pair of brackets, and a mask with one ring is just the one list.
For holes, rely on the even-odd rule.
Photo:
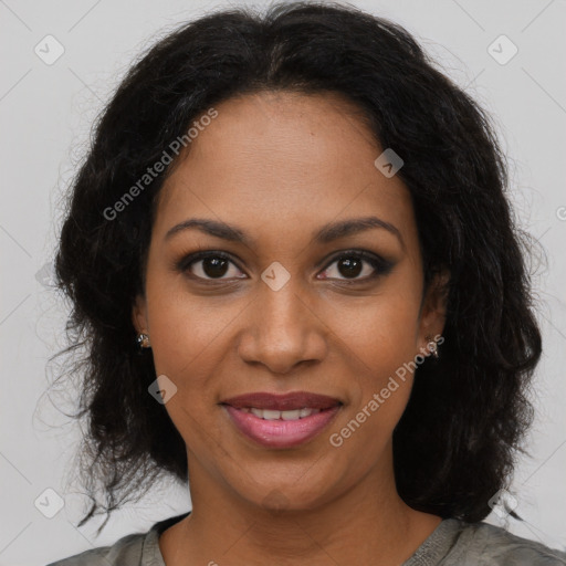
{"label": "woman's bare forehead between hairline and eyebrows", "polygon": [[199,128],[164,184],[157,232],[191,216],[251,233],[268,226],[311,232],[334,219],[375,213],[407,238],[416,235],[409,191],[398,176],[376,169],[384,148],[349,101],[270,92],[214,109],[217,117]]}

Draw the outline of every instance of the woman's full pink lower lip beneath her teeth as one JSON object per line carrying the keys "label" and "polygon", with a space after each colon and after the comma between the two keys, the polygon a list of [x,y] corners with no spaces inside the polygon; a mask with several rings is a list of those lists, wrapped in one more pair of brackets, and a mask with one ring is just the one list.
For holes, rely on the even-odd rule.
{"label": "woman's full pink lower lip beneath her teeth", "polygon": [[223,405],[232,422],[247,437],[268,448],[292,448],[316,437],[336,416],[340,406],[297,420],[265,420]]}

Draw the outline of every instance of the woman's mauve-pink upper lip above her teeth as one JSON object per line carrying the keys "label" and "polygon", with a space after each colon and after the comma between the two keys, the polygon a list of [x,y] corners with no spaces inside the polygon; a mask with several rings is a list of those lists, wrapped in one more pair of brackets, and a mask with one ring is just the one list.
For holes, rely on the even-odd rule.
{"label": "woman's mauve-pink upper lip above her teeth", "polygon": [[255,409],[271,409],[286,411],[294,409],[328,409],[342,405],[342,402],[327,395],[311,394],[308,391],[293,391],[284,395],[270,392],[252,392],[230,397],[221,401],[222,405],[230,405],[237,409],[254,407]]}

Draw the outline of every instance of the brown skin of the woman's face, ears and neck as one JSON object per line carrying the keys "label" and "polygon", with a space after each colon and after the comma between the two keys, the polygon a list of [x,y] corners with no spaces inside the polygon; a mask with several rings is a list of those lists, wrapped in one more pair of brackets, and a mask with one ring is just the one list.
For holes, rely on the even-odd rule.
{"label": "brown skin of the woman's face, ears and neck", "polygon": [[[441,521],[407,506],[395,485],[391,438],[412,376],[342,447],[329,437],[422,353],[427,336],[442,333],[441,281],[423,298],[409,192],[376,169],[382,149],[337,95],[260,93],[217,111],[161,189],[146,292],[133,313],[157,375],[178,388],[165,407],[187,446],[192,513],[160,536],[165,562],[400,564]],[[382,228],[313,241],[323,224],[367,216],[397,227],[402,242]],[[165,239],[189,218],[239,227],[252,243],[193,228]],[[220,275],[201,260],[185,273],[175,268],[199,249],[233,262]],[[352,274],[335,258],[350,249],[394,266],[370,279],[375,269],[358,259]],[[274,261],[291,275],[279,291],[261,279]],[[219,405],[297,390],[344,405],[293,449],[255,444]]]}

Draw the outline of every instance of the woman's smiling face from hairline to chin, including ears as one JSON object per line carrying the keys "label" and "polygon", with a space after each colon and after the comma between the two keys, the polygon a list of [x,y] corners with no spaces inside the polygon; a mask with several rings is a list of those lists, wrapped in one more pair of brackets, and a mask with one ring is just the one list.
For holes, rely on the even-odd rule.
{"label": "woman's smiling face from hairline to chin, including ears", "polygon": [[[436,294],[422,296],[409,192],[377,169],[385,148],[336,95],[261,93],[216,109],[161,189],[134,310],[159,385],[177,388],[165,408],[191,488],[311,509],[368,476],[390,481],[403,364],[443,325]],[[182,227],[197,219],[210,230]],[[315,401],[295,399],[275,421],[224,403],[297,391],[332,407],[297,419],[296,403]]]}

